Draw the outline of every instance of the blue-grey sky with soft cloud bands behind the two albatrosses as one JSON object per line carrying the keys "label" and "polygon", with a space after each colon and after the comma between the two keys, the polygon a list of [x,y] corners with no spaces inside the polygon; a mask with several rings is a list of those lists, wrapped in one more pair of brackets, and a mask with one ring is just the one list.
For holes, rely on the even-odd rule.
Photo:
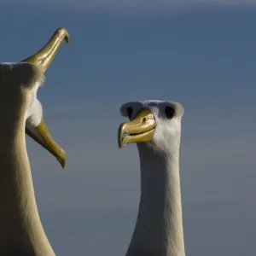
{"label": "blue-grey sky with soft cloud bands behind the two albatrosses", "polygon": [[[32,3],[31,3],[32,2]],[[43,1],[42,1],[43,2]],[[0,3],[1,61],[70,34],[38,91],[67,151],[61,170],[27,138],[40,216],[56,255],[125,255],[137,218],[136,145],[122,150],[119,106],[185,108],[180,154],[189,256],[256,250],[256,1],[73,0]]]}

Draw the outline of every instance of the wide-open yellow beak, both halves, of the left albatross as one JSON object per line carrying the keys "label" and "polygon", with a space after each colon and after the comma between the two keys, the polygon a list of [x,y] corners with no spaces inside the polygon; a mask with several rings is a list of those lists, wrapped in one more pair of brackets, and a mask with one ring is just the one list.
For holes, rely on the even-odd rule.
{"label": "wide-open yellow beak, both halves, of the left albatross", "polygon": [[[40,68],[42,73],[45,73],[50,63],[53,61],[56,52],[60,49],[63,40],[65,40],[69,46],[69,35],[67,29],[60,27],[55,30],[55,33],[49,39],[49,42],[45,44],[42,49],[21,62],[33,63]],[[44,123],[44,119],[41,120],[41,123],[37,127],[26,125],[26,134],[53,154],[61,163],[62,168],[65,167],[66,153],[50,136],[48,128]]]}

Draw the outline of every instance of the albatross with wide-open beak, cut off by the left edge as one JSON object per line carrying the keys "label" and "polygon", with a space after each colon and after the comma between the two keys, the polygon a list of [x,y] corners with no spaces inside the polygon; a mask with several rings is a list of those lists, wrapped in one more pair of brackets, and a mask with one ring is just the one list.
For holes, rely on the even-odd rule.
{"label": "albatross with wide-open beak, cut off by the left edge", "polygon": [[69,44],[67,30],[59,28],[35,55],[0,64],[0,255],[55,255],[38,215],[25,134],[64,168],[66,153],[50,136],[37,99],[44,73],[64,39]]}

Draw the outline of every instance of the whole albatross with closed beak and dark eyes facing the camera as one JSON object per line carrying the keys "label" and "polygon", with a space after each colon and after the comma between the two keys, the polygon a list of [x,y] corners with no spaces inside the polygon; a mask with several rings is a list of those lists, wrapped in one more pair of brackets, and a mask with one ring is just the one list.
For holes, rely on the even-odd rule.
{"label": "whole albatross with closed beak and dark eyes facing the camera", "polygon": [[120,112],[119,148],[137,143],[141,198],[126,256],[184,256],[179,146],[183,107],[177,102],[128,102]]}

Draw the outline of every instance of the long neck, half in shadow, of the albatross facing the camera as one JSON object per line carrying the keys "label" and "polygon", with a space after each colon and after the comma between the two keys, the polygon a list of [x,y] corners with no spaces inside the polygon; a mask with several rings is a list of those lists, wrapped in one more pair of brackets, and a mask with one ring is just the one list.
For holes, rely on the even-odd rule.
{"label": "long neck, half in shadow, of the albatross facing the camera", "polygon": [[137,144],[141,200],[126,256],[184,256],[178,151],[160,154]]}

